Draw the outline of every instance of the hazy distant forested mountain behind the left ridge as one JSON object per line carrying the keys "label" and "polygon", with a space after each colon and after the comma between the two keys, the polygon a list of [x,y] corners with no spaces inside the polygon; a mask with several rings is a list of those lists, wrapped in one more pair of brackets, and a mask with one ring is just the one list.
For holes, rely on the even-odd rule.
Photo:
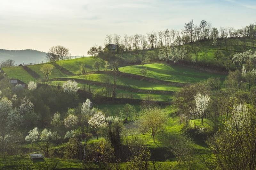
{"label": "hazy distant forested mountain behind the left ridge", "polygon": [[0,61],[13,59],[15,64],[45,62],[46,53],[37,50],[4,50],[0,49]]}

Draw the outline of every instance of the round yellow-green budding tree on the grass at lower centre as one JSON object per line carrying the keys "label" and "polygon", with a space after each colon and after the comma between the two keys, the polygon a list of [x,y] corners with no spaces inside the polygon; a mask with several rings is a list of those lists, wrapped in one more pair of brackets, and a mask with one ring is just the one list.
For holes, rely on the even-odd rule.
{"label": "round yellow-green budding tree on the grass at lower centre", "polygon": [[139,121],[139,127],[142,132],[148,132],[155,142],[156,134],[160,133],[166,122],[166,115],[160,108],[143,110],[142,117]]}

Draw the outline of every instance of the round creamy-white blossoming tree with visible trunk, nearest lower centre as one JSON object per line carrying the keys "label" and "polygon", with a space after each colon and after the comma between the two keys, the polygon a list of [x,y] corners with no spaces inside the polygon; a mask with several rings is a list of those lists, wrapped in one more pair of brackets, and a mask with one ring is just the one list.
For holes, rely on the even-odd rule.
{"label": "round creamy-white blossoming tree with visible trunk, nearest lower centre", "polygon": [[97,135],[97,139],[99,136],[98,132],[99,132],[100,128],[108,125],[106,123],[106,117],[101,112],[95,113],[89,120],[89,124],[90,124],[91,128],[94,129],[94,131]]}

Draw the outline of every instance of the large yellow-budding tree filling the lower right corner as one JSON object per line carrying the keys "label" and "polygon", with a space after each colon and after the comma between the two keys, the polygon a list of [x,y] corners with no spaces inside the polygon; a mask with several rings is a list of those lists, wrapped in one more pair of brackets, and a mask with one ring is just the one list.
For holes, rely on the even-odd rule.
{"label": "large yellow-budding tree filling the lower right corner", "polygon": [[255,115],[247,105],[232,107],[233,112],[218,132],[208,138],[206,143],[213,153],[205,159],[209,169],[255,169],[256,127]]}

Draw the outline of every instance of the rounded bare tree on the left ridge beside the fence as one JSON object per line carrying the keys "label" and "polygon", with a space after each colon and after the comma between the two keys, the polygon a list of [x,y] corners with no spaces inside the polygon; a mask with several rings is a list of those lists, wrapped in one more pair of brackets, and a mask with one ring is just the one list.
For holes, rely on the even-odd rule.
{"label": "rounded bare tree on the left ridge beside the fence", "polygon": [[69,49],[64,46],[52,46],[46,53],[46,59],[51,62],[65,60],[69,54]]}

